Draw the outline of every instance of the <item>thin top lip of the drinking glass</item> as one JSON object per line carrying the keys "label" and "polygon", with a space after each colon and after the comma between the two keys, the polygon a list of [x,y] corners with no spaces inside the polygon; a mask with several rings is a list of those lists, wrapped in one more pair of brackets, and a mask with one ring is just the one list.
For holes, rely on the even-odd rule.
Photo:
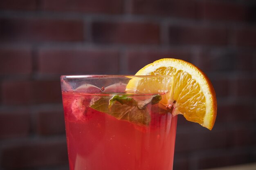
{"label": "thin top lip of the drinking glass", "polygon": [[111,79],[131,77],[174,77],[174,75],[61,75],[61,79]]}

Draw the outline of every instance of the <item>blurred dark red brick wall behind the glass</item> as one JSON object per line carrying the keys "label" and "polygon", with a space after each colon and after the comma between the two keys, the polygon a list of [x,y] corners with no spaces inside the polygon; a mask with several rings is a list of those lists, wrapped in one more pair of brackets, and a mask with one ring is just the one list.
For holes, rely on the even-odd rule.
{"label": "blurred dark red brick wall behind the glass", "polygon": [[0,1],[0,169],[68,170],[60,75],[191,62],[216,90],[212,131],[178,118],[174,170],[256,162],[254,0]]}

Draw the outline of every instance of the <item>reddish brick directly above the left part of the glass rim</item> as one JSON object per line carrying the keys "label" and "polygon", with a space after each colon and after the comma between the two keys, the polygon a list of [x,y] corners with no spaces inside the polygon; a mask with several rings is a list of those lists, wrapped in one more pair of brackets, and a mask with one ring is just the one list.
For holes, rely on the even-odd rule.
{"label": "reddish brick directly above the left part of the glass rim", "polygon": [[119,53],[106,50],[42,49],[39,51],[41,74],[117,74]]}

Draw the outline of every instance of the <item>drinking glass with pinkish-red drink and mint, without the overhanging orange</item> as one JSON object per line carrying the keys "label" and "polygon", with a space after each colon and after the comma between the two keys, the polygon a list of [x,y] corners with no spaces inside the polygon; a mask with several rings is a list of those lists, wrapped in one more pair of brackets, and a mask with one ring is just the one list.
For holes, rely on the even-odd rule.
{"label": "drinking glass with pinkish-red drink and mint, without the overhanging orange", "polygon": [[[70,170],[172,170],[173,76],[63,75]],[[167,84],[168,86],[164,86]]]}

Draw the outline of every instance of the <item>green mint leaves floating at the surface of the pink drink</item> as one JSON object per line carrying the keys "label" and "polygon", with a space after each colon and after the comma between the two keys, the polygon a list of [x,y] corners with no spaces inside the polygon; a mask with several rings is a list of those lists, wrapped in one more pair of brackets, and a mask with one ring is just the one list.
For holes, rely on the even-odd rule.
{"label": "green mint leaves floating at the surface of the pink drink", "polygon": [[119,120],[148,126],[151,117],[146,105],[157,104],[161,99],[161,95],[154,95],[146,100],[135,100],[127,95],[114,95],[111,98],[109,96],[101,97],[90,107]]}

